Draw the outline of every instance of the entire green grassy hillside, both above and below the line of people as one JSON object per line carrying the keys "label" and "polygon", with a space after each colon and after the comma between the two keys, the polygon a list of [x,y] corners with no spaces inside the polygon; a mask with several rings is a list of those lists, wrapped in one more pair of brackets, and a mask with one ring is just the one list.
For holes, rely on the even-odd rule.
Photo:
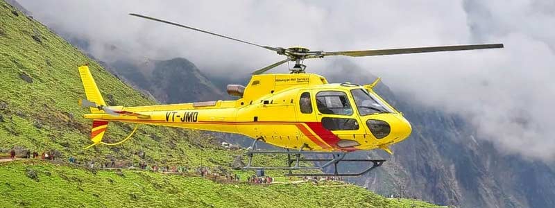
{"label": "entire green grassy hillside, both above and below the line of people", "polygon": [[[387,200],[346,185],[219,184],[202,177],[147,171],[89,171],[65,163],[78,161],[135,162],[142,152],[149,164],[223,166],[241,150],[218,148],[202,132],[142,126],[121,146],[89,141],[88,110],[77,67],[88,63],[109,105],[153,105],[139,92],[105,71],[58,35],[0,0],[0,150],[13,147],[56,151],[62,164],[38,160],[0,162],[0,207],[402,207],[411,200]],[[130,125],[111,123],[107,141],[126,137]],[[1,154],[1,153],[0,153]],[[60,162],[60,161],[58,161]],[[258,162],[280,164],[267,156]],[[36,177],[33,176],[36,174]],[[250,174],[250,173],[243,173]],[[277,174],[277,173],[275,173]],[[282,178],[285,180],[285,178]]]}

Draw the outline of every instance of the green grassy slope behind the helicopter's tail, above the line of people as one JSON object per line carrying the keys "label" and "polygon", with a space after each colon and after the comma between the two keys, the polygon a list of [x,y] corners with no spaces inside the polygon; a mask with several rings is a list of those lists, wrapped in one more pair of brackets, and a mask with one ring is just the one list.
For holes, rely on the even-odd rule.
{"label": "green grassy slope behind the helicopter's tail, above the line of people", "polygon": [[[232,155],[212,148],[214,138],[200,132],[142,126],[122,146],[90,144],[91,121],[87,109],[78,107],[85,98],[77,67],[89,63],[105,100],[110,105],[153,105],[139,92],[102,69],[39,22],[0,1],[0,148],[21,146],[39,153],[57,150],[62,157],[105,160],[106,156],[130,159],[133,150],[146,153],[150,162],[190,166],[229,164]],[[12,12],[13,11],[13,12]],[[118,141],[130,125],[110,123],[106,141]],[[137,157],[137,156],[135,156]],[[138,159],[138,157],[136,158]]]}

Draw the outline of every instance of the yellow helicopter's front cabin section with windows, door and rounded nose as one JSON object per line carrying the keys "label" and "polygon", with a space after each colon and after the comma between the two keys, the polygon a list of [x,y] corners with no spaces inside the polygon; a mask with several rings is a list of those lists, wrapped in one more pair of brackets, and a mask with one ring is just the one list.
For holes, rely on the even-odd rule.
{"label": "yellow helicopter's front cabin section with windows, door and rounded nose", "polygon": [[[323,128],[342,138],[343,142],[337,143],[339,148],[391,144],[411,132],[400,112],[366,86],[331,84],[313,88],[300,93],[299,107],[299,116],[316,116]],[[365,139],[364,135],[376,140]]]}

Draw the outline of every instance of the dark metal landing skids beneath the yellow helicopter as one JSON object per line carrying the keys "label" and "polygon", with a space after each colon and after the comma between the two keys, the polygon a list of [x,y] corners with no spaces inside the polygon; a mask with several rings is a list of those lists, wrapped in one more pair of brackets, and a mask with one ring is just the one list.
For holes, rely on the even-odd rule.
{"label": "dark metal landing skids beneath the yellow helicopter", "polygon": [[[256,139],[253,142],[253,145],[250,146],[250,150],[248,150],[246,156],[248,157],[248,164],[244,166],[243,170],[284,170],[289,171],[286,173],[286,176],[359,176],[364,175],[374,168],[382,166],[385,159],[345,159],[345,155],[348,153],[344,152],[313,152],[313,151],[303,151],[302,149],[305,146],[302,146],[299,150],[291,151],[286,149],[285,151],[257,151],[256,150],[256,143],[259,139]],[[287,166],[253,166],[253,157],[255,155],[264,155],[264,154],[277,154],[277,155],[287,155]],[[307,155],[332,155],[332,158],[307,158]],[[291,158],[293,157],[293,158]],[[301,166],[300,162],[323,162],[324,164],[321,165],[314,165],[314,166]],[[337,164],[339,162],[372,162],[371,166],[364,169],[359,173],[339,173],[337,169]],[[328,166],[333,166],[333,173],[306,173],[307,171],[311,170],[323,170],[323,168],[327,168]],[[293,171],[302,171],[305,173],[293,173]]]}

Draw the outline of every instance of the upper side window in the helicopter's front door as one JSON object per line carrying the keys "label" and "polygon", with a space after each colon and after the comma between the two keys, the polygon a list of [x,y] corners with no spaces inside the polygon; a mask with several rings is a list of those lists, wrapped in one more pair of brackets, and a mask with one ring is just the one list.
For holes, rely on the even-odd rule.
{"label": "upper side window in the helicopter's front door", "polygon": [[352,115],[347,94],[339,91],[322,91],[316,94],[316,106],[323,114]]}

